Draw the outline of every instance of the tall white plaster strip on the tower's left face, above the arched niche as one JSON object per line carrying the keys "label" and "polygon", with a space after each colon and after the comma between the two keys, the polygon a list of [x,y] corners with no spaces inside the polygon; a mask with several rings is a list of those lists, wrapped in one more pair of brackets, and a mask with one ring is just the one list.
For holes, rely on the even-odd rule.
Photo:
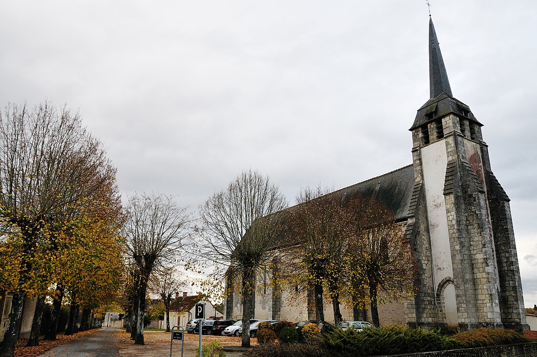
{"label": "tall white plaster strip on the tower's left face, above the arched niche", "polygon": [[446,180],[447,153],[445,140],[437,141],[422,148],[422,166],[431,251],[433,258],[434,285],[447,276],[453,277],[451,247],[447,230],[446,201],[444,182]]}

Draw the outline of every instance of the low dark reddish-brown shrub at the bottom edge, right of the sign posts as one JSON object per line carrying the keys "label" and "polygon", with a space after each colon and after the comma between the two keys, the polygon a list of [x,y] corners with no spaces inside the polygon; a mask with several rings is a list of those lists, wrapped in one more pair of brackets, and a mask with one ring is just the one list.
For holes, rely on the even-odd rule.
{"label": "low dark reddish-brown shrub at the bottom edge, right of the sign posts", "polygon": [[[286,326],[289,327],[289,326]],[[330,351],[326,351],[318,344],[278,344],[257,345],[246,352],[243,357],[333,357]]]}

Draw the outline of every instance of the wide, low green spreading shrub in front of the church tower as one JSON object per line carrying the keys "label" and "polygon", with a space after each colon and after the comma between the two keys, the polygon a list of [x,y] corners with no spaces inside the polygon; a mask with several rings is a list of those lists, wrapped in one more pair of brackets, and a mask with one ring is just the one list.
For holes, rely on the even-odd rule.
{"label": "wide, low green spreading shrub in front of the church tower", "polygon": [[322,336],[325,346],[331,351],[353,356],[445,351],[459,345],[438,331],[404,326],[377,327],[362,332],[335,329]]}

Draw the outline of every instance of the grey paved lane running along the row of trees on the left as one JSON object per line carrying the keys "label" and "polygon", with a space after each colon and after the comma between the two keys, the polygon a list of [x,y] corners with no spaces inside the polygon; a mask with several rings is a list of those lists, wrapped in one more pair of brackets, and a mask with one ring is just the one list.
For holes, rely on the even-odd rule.
{"label": "grey paved lane running along the row of trees on the left", "polygon": [[119,341],[114,333],[118,329],[103,327],[99,331],[70,340],[64,345],[50,349],[40,357],[121,357]]}

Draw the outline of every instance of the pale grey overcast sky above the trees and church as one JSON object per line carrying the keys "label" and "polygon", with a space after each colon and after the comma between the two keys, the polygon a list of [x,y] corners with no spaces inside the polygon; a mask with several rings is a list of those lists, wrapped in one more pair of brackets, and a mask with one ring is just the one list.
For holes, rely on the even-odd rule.
{"label": "pale grey overcast sky above the trees and church", "polygon": [[[431,0],[454,97],[484,124],[537,303],[537,2]],[[192,210],[242,170],[290,203],[411,163],[429,99],[424,0],[0,0],[0,105],[78,108],[122,193]]]}

